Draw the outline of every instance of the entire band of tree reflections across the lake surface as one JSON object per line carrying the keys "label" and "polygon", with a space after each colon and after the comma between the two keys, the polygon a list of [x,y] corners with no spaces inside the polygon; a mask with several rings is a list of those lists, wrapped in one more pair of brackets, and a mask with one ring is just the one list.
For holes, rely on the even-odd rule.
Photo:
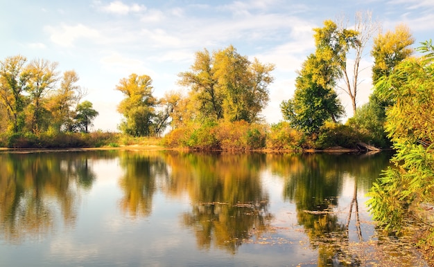
{"label": "entire band of tree reflections across the lake surface", "polygon": [[[29,237],[44,237],[59,229],[56,224],[74,225],[80,193],[92,190],[96,180],[94,159],[105,158],[119,160],[122,174],[115,178],[119,178],[116,190],[120,189],[122,196],[118,199],[114,194],[118,201],[114,208],[123,212],[121,219],[149,217],[157,193],[165,199],[186,200],[190,206],[186,211],[180,205],[180,224],[194,233],[198,248],[218,248],[230,254],[237,253],[243,243],[281,237],[273,226],[270,187],[263,185],[269,181],[268,174],[279,177],[283,188],[273,190],[295,204],[297,223],[309,237],[309,246],[318,250],[318,265],[361,263],[346,248],[354,239],[349,231],[351,219],[356,221],[356,239],[362,241],[358,197],[370,189],[388,163],[388,156],[346,154],[0,154],[1,239],[20,243]],[[342,208],[338,196],[342,196],[345,183],[351,185],[345,187],[351,190],[351,205]],[[161,203],[166,202],[155,201],[155,205]],[[349,261],[342,261],[344,258]]]}

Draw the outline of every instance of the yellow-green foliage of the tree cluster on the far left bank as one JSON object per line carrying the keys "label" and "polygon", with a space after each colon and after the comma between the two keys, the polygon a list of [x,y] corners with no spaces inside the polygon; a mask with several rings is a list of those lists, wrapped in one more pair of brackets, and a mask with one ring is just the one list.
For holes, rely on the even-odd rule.
{"label": "yellow-green foliage of the tree cluster on the far left bank", "polygon": [[[83,125],[86,119],[82,118],[83,111],[79,110],[76,118],[76,107],[85,95],[76,84],[78,75],[75,71],[65,71],[59,79],[57,67],[57,62],[45,59],[27,64],[26,57],[21,55],[0,61],[0,114],[4,118],[0,130],[7,131],[12,141],[17,136],[26,137],[29,132],[39,138],[41,133],[73,132],[80,127],[87,131],[90,121]],[[26,146],[38,146],[31,138],[27,142]]]}

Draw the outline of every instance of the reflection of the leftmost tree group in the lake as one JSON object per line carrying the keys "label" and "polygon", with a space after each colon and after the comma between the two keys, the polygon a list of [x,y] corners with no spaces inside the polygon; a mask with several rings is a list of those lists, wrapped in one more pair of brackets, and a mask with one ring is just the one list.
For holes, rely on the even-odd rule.
{"label": "reflection of the leftmost tree group in the lake", "polygon": [[60,212],[74,225],[77,189],[95,178],[88,163],[94,154],[0,154],[0,234],[10,243],[41,239],[55,229]]}

